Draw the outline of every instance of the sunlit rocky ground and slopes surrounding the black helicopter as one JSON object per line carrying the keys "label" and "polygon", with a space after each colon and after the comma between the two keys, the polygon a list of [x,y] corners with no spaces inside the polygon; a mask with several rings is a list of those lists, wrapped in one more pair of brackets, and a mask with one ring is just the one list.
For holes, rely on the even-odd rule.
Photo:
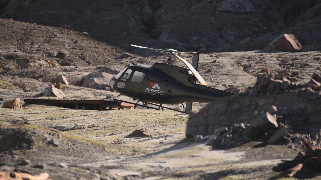
{"label": "sunlit rocky ground and slopes surrounding the black helicopter", "polygon": [[[165,62],[130,44],[200,52],[198,71],[209,86],[241,92],[193,103],[187,114],[48,104],[0,108],[0,172],[48,172],[51,179],[263,180],[278,179],[298,163],[308,167],[319,151],[311,155],[301,140],[315,147],[321,142],[320,91],[311,82],[321,72],[320,3],[0,0],[1,106],[14,98],[22,104],[57,98],[41,97],[53,86],[59,98],[111,100],[118,93],[109,79],[130,59]],[[301,52],[262,51],[288,32]],[[67,83],[54,79],[61,75]],[[259,126],[266,119],[270,123]],[[132,135],[142,127],[153,136]],[[320,179],[302,169],[288,179]]]}

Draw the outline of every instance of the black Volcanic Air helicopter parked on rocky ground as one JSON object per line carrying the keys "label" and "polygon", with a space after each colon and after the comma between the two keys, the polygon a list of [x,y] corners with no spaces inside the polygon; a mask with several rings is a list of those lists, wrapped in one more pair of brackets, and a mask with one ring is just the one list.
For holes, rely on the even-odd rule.
{"label": "black Volcanic Air helicopter parked on rocky ground", "polygon": [[[118,102],[126,102],[136,106],[143,106],[148,109],[163,110],[163,104],[178,104],[182,102],[210,102],[217,98],[231,96],[234,93],[208,87],[204,79],[195,70],[197,69],[199,53],[183,53],[174,49],[153,49],[143,46],[131,45],[134,47],[149,49],[158,53],[167,55],[167,62],[155,62],[152,66],[138,65],[132,62],[133,65],[122,70],[113,77],[109,85],[119,95],[126,95],[136,103],[114,99],[117,105],[123,109]],[[181,54],[193,54],[194,67],[185,59],[179,57]],[[175,59],[182,61],[187,68],[173,65]],[[196,80],[200,84],[196,84]],[[118,97],[118,96],[117,96]],[[138,104],[142,102],[143,105]],[[148,106],[151,104],[155,107]],[[183,105],[183,104],[182,104]],[[183,105],[183,109],[184,105]],[[180,110],[176,110],[182,112]]]}

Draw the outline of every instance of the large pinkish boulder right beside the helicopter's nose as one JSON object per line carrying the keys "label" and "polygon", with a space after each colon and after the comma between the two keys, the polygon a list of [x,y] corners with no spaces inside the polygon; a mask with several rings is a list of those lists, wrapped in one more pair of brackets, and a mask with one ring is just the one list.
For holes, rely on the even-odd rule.
{"label": "large pinkish boulder right beside the helicopter's nose", "polygon": [[106,72],[92,72],[83,78],[83,87],[109,90],[109,81],[114,76]]}

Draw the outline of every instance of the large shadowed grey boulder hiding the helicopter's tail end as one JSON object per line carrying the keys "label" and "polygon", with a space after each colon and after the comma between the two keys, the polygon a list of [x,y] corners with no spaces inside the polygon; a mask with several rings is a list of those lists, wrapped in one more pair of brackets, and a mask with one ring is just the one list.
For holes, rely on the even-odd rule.
{"label": "large shadowed grey boulder hiding the helicopter's tail end", "polygon": [[[258,76],[259,78],[260,76]],[[264,81],[264,78],[262,81]],[[268,85],[269,82],[266,84]],[[307,88],[303,85],[293,86],[291,90],[286,92],[262,95],[253,92],[253,89],[249,89],[240,95],[223,97],[214,102],[209,102],[197,114],[189,117],[186,125],[186,136],[213,135],[219,127],[231,127],[233,124],[241,122],[251,123],[249,127],[256,127],[257,129],[251,129],[258,130],[258,132],[271,129],[271,127],[275,128],[277,126],[275,124],[276,118],[273,115],[265,114],[272,105],[282,109],[280,113],[285,113],[285,115],[280,114],[282,115],[280,120],[287,120],[290,125],[291,123],[294,125],[302,123],[305,126],[304,128],[321,129],[319,118],[321,115],[321,92],[317,90],[317,87],[315,90],[309,90],[310,87],[308,86],[311,86],[309,84],[304,86],[307,86]],[[264,112],[261,116],[265,117],[257,119],[257,125],[252,125],[255,122],[254,119],[261,112]],[[288,119],[285,119],[286,117]],[[266,119],[269,119],[269,122]],[[263,127],[263,124],[261,126],[260,121],[262,123],[267,122],[271,127]]]}

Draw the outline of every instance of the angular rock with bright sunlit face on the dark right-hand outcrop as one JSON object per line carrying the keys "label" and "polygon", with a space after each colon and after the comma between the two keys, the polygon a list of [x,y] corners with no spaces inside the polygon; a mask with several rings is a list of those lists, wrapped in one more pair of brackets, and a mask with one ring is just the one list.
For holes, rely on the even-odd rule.
{"label": "angular rock with bright sunlit face on the dark right-hand outcrop", "polygon": [[278,127],[276,117],[266,112],[265,115],[251,121],[251,127],[261,131],[268,131]]}

